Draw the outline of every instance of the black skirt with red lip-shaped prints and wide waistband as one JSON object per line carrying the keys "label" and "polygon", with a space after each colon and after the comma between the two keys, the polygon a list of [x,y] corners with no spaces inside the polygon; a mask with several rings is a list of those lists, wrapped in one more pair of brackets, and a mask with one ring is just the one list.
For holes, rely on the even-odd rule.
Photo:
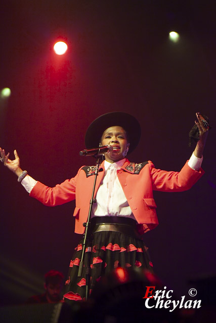
{"label": "black skirt with red lip-shaped prints and wide waistband", "polygon": [[[107,275],[120,267],[141,267],[150,272],[152,262],[149,259],[148,248],[136,230],[136,221],[123,217],[95,217],[92,223],[92,255],[90,293],[95,283],[103,275]],[[109,227],[109,224],[111,225]],[[108,226],[107,226],[108,225]],[[104,231],[104,230],[111,231]],[[114,230],[114,231],[113,231]],[[84,257],[82,276],[77,277],[82,253],[83,239],[75,248],[69,266],[68,279],[65,283],[64,300],[81,301],[85,299],[85,267],[87,256]]]}

